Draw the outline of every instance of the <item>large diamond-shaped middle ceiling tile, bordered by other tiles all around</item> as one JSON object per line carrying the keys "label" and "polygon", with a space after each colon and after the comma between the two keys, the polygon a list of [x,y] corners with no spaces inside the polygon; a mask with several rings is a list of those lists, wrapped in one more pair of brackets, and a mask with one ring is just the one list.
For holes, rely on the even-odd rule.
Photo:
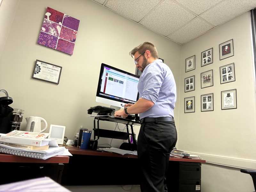
{"label": "large diamond-shaped middle ceiling tile, bordered by other tiles all around", "polygon": [[165,0],[150,12],[140,24],[167,36],[196,16],[171,0]]}

